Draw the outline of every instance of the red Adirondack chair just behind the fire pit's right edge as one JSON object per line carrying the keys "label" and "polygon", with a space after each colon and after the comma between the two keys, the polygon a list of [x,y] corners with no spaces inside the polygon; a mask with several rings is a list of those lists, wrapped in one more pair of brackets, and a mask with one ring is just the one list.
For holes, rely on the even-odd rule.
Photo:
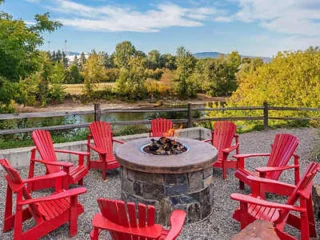
{"label": "red Adirondack chair just behind the fire pit's right edge", "polygon": [[[239,153],[239,136],[236,134],[237,126],[233,122],[218,121],[213,126],[211,132],[211,139],[205,140],[205,142],[211,142],[211,144],[218,150],[218,158],[213,167],[222,168],[223,179],[227,178],[228,168],[237,168],[237,161],[228,159],[230,152],[236,150],[236,154]],[[232,145],[232,141],[235,139],[235,144]]]}

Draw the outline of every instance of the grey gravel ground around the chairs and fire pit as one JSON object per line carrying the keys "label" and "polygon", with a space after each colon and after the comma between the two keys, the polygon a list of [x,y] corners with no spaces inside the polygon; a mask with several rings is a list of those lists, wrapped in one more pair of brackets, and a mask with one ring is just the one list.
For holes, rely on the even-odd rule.
{"label": "grey gravel ground around the chairs and fire pit", "polygon": [[[270,144],[272,143],[274,136],[277,133],[291,133],[299,137],[300,145],[297,153],[301,156],[301,172],[303,172],[309,162],[310,153],[315,144],[319,143],[319,130],[304,128],[304,129],[279,129],[269,130],[267,132],[251,132],[240,135],[240,152],[241,153],[254,153],[254,152],[269,152]],[[248,161],[247,167],[254,169],[258,166],[265,166],[266,158],[255,158]],[[40,170],[38,170],[40,171]],[[23,178],[27,177],[28,169],[19,169]],[[238,206],[238,202],[230,199],[230,194],[233,192],[241,192],[238,189],[238,181],[233,176],[234,171],[229,170],[228,179],[223,181],[221,179],[221,171],[213,170],[214,175],[214,212],[206,220],[198,223],[185,225],[179,239],[230,239],[233,234],[239,232],[239,223],[233,220],[232,213]],[[3,171],[0,171],[0,216],[3,216],[4,203],[5,203],[5,189],[6,183],[3,178]],[[293,172],[290,170],[281,176],[281,180],[288,183],[294,183]],[[316,176],[315,182],[320,184],[320,174]],[[87,193],[81,195],[79,198],[80,203],[84,204],[85,212],[79,217],[78,235],[73,239],[89,239],[89,232],[91,231],[91,219],[95,213],[97,213],[98,206],[96,198],[105,197],[112,199],[120,198],[120,177],[118,170],[109,172],[107,175],[107,181],[103,182],[101,179],[101,173],[98,171],[91,171],[85,178],[85,186],[87,187]],[[76,186],[75,186],[76,187]],[[41,193],[35,193],[35,195],[45,195],[49,191]],[[249,193],[249,189],[246,188],[243,193]],[[274,197],[272,197],[274,199]],[[278,198],[277,198],[278,200]],[[281,200],[281,199],[280,199]],[[28,228],[32,224],[29,221],[25,224]],[[0,220],[2,226],[2,218]],[[317,222],[318,234],[320,234],[320,222]],[[296,231],[289,229],[290,232],[296,234]],[[108,234],[103,233],[101,235],[103,239]],[[12,239],[12,231],[9,233],[0,233],[0,239]],[[58,228],[51,232],[43,239],[69,239],[68,237],[68,224]]]}

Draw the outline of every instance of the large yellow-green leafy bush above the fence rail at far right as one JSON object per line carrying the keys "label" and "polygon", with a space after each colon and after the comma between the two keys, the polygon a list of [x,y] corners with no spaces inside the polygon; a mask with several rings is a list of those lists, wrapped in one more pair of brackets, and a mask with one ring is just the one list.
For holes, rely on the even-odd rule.
{"label": "large yellow-green leafy bush above the fence rail at far right", "polygon": [[[320,106],[320,50],[279,52],[268,64],[239,72],[235,106]],[[287,112],[288,114],[288,112]]]}

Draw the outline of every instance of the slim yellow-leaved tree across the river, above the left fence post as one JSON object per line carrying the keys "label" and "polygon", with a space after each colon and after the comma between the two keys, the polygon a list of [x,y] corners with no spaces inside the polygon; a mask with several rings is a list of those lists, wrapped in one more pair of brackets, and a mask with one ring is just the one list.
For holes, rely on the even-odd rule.
{"label": "slim yellow-leaved tree across the river, above the left fence post", "polygon": [[84,89],[83,92],[88,99],[92,99],[97,83],[106,78],[104,68],[104,54],[95,51],[89,55],[83,67]]}

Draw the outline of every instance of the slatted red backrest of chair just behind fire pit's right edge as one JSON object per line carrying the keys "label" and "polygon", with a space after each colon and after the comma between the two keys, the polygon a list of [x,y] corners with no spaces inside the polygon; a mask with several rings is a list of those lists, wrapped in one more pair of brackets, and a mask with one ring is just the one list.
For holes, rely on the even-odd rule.
{"label": "slatted red backrest of chair just behind fire pit's right edge", "polygon": [[232,144],[237,127],[230,121],[217,121],[213,126],[212,145],[219,151],[219,157],[222,154],[222,149],[228,148]]}

